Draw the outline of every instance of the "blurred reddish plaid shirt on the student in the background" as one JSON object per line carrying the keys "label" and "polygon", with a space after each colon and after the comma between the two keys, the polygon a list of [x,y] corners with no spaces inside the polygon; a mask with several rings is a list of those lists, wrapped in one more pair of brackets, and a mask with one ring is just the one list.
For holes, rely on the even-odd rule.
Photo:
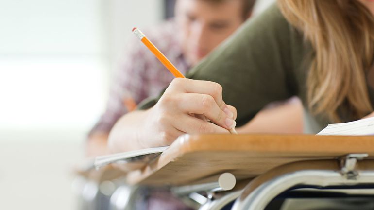
{"label": "blurred reddish plaid shirt on the student in the background", "polygon": [[[171,19],[145,31],[145,35],[165,54],[174,66],[186,74],[189,66],[182,54],[176,35],[176,24]],[[114,75],[106,110],[90,131],[109,133],[117,120],[128,112],[124,101],[132,98],[136,104],[154,97],[166,88],[174,76],[147,47],[133,36],[127,46],[122,65]]]}

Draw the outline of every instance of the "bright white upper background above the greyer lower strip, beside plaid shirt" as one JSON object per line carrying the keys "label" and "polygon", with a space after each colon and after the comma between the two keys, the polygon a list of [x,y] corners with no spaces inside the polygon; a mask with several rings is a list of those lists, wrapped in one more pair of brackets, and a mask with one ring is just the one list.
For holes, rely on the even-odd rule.
{"label": "bright white upper background above the greyer lower strip, beside plaid shirt", "polygon": [[161,2],[1,0],[0,127],[91,126],[132,27],[158,22]]}

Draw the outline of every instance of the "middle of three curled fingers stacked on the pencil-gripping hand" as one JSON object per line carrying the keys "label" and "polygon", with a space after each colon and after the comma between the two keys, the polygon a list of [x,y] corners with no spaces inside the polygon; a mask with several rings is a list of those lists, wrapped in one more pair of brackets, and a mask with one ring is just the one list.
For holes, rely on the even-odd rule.
{"label": "middle of three curled fingers stacked on the pencil-gripping hand", "polygon": [[180,103],[178,105],[182,112],[187,114],[203,114],[213,123],[226,129],[235,127],[234,113],[226,105],[224,110],[222,110],[212,96],[188,93],[180,94],[179,97],[178,100],[180,100]]}

